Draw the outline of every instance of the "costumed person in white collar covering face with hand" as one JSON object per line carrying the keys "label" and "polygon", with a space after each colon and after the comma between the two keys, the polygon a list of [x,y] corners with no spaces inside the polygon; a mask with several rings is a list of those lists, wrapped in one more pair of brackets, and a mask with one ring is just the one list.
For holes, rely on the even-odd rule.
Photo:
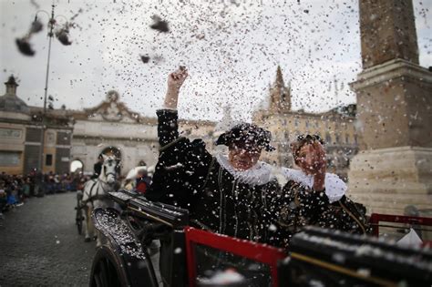
{"label": "costumed person in white collar covering face with hand", "polygon": [[299,136],[291,145],[299,169],[283,168],[287,183],[273,200],[279,229],[278,245],[287,247],[305,225],[365,234],[365,208],[345,196],[345,182],[326,172],[324,141],[316,135]]}

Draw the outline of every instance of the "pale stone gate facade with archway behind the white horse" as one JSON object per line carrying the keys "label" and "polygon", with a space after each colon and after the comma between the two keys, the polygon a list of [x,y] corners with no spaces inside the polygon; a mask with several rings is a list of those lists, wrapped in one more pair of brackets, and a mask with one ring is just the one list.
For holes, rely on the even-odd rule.
{"label": "pale stone gate facade with archway behind the white horse", "polygon": [[[79,160],[87,172],[100,153],[113,152],[121,159],[125,174],[144,161],[156,165],[159,155],[157,118],[147,118],[131,111],[120,101],[117,91],[108,91],[97,107],[72,112],[74,137],[71,160]],[[206,138],[214,123],[180,120],[180,130],[190,138]],[[208,137],[207,137],[208,138]],[[208,140],[211,145],[211,140]]]}

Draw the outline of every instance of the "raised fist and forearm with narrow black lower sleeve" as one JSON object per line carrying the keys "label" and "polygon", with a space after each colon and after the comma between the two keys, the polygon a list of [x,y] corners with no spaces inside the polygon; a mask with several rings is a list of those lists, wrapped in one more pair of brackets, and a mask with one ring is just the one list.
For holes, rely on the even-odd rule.
{"label": "raised fist and forearm with narrow black lower sleeve", "polygon": [[188,71],[180,67],[177,71],[170,73],[168,77],[167,94],[165,95],[164,108],[157,111],[158,115],[158,138],[161,148],[179,138],[179,126],[177,123],[177,103],[180,87],[188,77]]}

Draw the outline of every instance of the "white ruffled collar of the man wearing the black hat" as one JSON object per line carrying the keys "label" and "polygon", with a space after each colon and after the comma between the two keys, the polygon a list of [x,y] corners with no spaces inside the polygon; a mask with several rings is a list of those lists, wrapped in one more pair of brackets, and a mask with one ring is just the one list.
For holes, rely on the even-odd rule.
{"label": "white ruffled collar of the man wearing the black hat", "polygon": [[232,167],[226,156],[218,154],[215,158],[223,169],[226,169],[234,179],[239,179],[242,183],[249,185],[262,185],[266,184],[273,178],[271,176],[272,166],[268,163],[258,161],[251,169],[237,170]]}

